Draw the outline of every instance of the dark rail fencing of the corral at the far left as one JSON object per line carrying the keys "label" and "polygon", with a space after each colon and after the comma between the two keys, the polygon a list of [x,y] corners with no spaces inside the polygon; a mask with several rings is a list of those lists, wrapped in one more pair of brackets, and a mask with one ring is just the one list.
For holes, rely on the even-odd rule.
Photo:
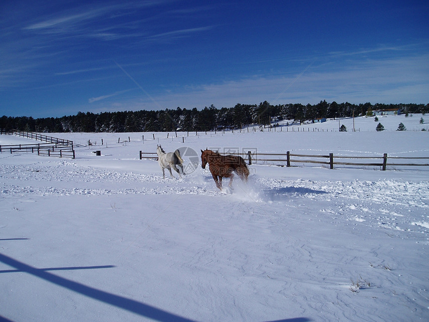
{"label": "dark rail fencing of the corral at the far left", "polygon": [[56,156],[60,158],[75,158],[73,141],[70,140],[63,140],[52,136],[42,135],[39,133],[25,132],[19,130],[1,131],[0,134],[21,136],[33,140],[47,142],[34,144],[0,145],[0,152],[8,151],[10,153],[13,153],[18,151],[31,151],[31,153],[37,152],[37,155]]}

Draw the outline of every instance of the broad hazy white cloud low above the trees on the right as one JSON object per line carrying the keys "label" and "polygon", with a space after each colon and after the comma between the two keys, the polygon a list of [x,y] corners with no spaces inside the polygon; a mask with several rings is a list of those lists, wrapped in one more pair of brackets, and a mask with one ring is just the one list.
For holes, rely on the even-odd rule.
{"label": "broad hazy white cloud low above the trees on the right", "polygon": [[[231,107],[236,103],[317,103],[320,100],[364,103],[428,103],[429,54],[386,60],[350,62],[341,68],[311,66],[286,76],[255,76],[216,84],[202,84],[154,95],[163,108]],[[282,94],[281,94],[282,93]],[[281,95],[280,95],[281,94]],[[279,96],[280,95],[280,96]],[[159,109],[142,97],[136,106]],[[152,106],[153,105],[153,106]]]}

